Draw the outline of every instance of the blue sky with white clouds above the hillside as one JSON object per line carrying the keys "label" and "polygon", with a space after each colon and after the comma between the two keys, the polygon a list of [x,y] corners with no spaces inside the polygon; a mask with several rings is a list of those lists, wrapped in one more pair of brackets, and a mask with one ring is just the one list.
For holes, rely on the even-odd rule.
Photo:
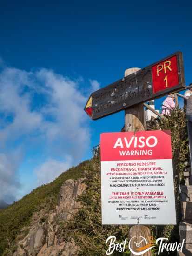
{"label": "blue sky with white clouds above the hillside", "polygon": [[91,121],[83,107],[126,68],[180,50],[192,82],[191,11],[191,1],[1,2],[0,199],[51,181],[122,128],[123,111]]}

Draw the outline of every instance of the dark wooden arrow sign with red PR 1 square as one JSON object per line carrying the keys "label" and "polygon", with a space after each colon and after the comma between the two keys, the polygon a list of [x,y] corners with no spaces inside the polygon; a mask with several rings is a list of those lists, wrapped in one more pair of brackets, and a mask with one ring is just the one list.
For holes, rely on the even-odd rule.
{"label": "dark wooden arrow sign with red PR 1 square", "polygon": [[93,92],[85,107],[93,119],[177,91],[185,86],[181,52]]}

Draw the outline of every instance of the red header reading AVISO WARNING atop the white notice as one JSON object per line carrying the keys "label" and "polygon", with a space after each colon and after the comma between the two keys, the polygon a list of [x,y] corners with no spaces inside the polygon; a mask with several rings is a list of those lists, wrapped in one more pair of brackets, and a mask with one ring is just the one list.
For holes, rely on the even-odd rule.
{"label": "red header reading AVISO WARNING atop the white notice", "polygon": [[101,161],[172,159],[170,131],[101,134]]}

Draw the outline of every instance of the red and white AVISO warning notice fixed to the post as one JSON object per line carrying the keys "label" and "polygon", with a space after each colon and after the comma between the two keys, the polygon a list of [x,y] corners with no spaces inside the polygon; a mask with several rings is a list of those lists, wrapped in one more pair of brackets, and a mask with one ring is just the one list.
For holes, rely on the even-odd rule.
{"label": "red and white AVISO warning notice fixed to the post", "polygon": [[170,131],[101,134],[102,224],[176,224]]}

